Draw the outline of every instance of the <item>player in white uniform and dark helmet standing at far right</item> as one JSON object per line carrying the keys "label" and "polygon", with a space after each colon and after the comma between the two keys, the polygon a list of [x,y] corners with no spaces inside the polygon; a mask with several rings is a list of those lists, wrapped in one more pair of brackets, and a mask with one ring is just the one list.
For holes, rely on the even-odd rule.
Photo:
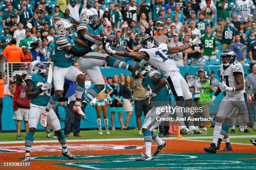
{"label": "player in white uniform and dark helmet standing at far right", "polygon": [[[222,128],[222,123],[225,117],[231,117],[233,110],[237,107],[241,113],[243,122],[256,131],[256,122],[251,120],[251,112],[248,103],[248,95],[245,91],[245,80],[243,67],[239,62],[236,62],[236,53],[232,50],[224,50],[220,55],[220,78],[222,82],[218,83],[218,89],[213,95],[213,102],[220,94],[225,91],[226,95],[220,102],[219,110],[216,115],[216,122],[213,131],[212,144],[209,148],[204,148],[207,153],[216,153],[218,139],[223,139],[228,132],[229,126]],[[220,133],[220,131],[222,131]],[[221,137],[222,136],[222,137]]]}

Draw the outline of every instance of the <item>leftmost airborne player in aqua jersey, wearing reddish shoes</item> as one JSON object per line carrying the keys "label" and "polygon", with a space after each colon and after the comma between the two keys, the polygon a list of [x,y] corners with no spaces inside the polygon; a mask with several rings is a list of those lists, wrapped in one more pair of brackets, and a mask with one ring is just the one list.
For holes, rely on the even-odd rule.
{"label": "leftmost airborne player in aqua jersey, wearing reddish shoes", "polygon": [[92,47],[77,50],[77,48],[74,47],[74,43],[80,42],[81,40],[79,41],[79,39],[75,37],[73,33],[73,24],[70,23],[69,20],[60,19],[54,26],[58,34],[54,40],[54,52],[51,56],[51,61],[54,62],[53,80],[55,94],[51,96],[45,112],[41,115],[40,123],[44,127],[47,125],[47,115],[49,110],[56,104],[56,101],[63,93],[64,78],[77,82],[77,98],[72,110],[76,111],[79,115],[84,116],[84,112],[82,112],[80,107],[81,97],[84,92],[84,75],[78,68],[72,66],[72,57],[73,55],[78,57],[82,56],[98,47],[97,44],[95,44],[92,45]]}

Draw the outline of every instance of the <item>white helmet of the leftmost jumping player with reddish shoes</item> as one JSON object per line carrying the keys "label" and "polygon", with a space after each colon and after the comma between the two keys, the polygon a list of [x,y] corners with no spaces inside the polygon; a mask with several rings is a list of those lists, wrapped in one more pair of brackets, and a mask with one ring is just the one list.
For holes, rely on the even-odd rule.
{"label": "white helmet of the leftmost jumping player with reddish shoes", "polygon": [[73,35],[73,31],[74,31],[73,24],[70,23],[69,20],[60,19],[55,23],[54,27],[57,34],[67,35],[69,37]]}

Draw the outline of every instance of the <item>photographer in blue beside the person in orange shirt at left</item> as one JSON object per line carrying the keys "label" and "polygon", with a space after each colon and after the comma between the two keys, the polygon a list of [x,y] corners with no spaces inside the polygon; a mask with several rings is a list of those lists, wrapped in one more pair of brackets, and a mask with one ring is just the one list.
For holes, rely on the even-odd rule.
{"label": "photographer in blue beside the person in orange shirt at left", "polygon": [[46,52],[44,52],[44,48],[41,47],[42,42],[37,40],[36,42],[31,43],[30,47],[32,48],[30,51],[30,55],[32,58],[32,61],[41,61],[45,62],[44,55],[46,55]]}

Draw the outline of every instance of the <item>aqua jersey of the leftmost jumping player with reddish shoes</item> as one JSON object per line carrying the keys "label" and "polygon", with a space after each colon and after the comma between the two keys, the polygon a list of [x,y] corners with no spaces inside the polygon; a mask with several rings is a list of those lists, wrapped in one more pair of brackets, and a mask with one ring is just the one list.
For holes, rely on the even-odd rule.
{"label": "aqua jersey of the leftmost jumping player with reddish shoes", "polygon": [[67,45],[74,46],[75,35],[72,37],[58,35],[54,40],[54,52],[51,55],[51,61],[54,65],[61,68],[67,68],[73,64],[73,55],[67,52],[64,47]]}

